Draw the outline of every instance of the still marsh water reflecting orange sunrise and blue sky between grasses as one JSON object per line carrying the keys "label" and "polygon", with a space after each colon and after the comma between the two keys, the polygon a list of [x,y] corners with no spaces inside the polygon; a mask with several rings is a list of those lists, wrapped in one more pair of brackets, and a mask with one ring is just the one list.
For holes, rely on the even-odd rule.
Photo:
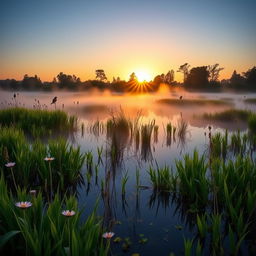
{"label": "still marsh water reflecting orange sunrise and blue sky between grasses", "polygon": [[[214,99],[230,102],[230,105],[205,106],[168,106],[157,104],[156,100],[162,98],[177,99]],[[184,91],[162,91],[157,95],[122,96],[110,93],[82,93],[82,92],[20,92],[17,102],[12,99],[13,93],[0,91],[2,108],[15,104],[37,108],[44,104],[48,109],[55,109],[50,105],[54,96],[58,97],[57,109],[63,109],[70,114],[76,114],[79,122],[84,124],[69,138],[70,142],[79,145],[82,152],[92,151],[94,162],[97,163],[97,149],[103,148],[102,164],[99,164],[98,179],[95,175],[90,186],[86,182],[86,166],[83,167],[85,185],[78,188],[78,199],[84,207],[84,217],[89,214],[99,200],[98,212],[104,217],[104,225],[108,230],[115,232],[116,237],[121,237],[121,243],[112,244],[114,255],[183,255],[184,238],[193,238],[195,235],[194,216],[188,213],[185,205],[177,202],[174,195],[155,195],[151,189],[148,174],[149,166],[168,165],[175,166],[175,159],[182,159],[184,154],[191,154],[197,149],[200,154],[208,153],[208,126],[211,125],[212,133],[224,132],[224,129],[236,131],[247,129],[246,123],[215,122],[209,123],[198,118],[203,113],[213,113],[230,108],[250,109],[255,111],[256,105],[244,103],[245,98],[256,97],[256,94],[230,94],[230,93],[188,93]],[[38,103],[39,101],[39,103]],[[10,104],[11,103],[11,104]],[[9,105],[8,105],[9,104]],[[44,106],[44,107],[46,107]],[[142,152],[141,147],[136,149],[134,141],[126,141],[122,151],[123,156],[118,165],[111,164],[106,151],[111,145],[106,132],[93,134],[91,125],[99,120],[106,123],[107,119],[120,108],[131,119],[141,112],[141,124],[148,124],[155,120],[158,125],[158,138],[152,138],[149,151]],[[184,140],[176,136],[176,140],[167,141],[166,124],[171,122],[178,125],[180,119],[188,123]],[[207,134],[205,136],[205,133]],[[140,189],[136,187],[136,171],[140,174]],[[128,175],[125,197],[121,194],[121,180],[125,173]],[[104,181],[105,190],[102,194],[101,181]],[[145,188],[145,189],[144,189]],[[122,248],[124,239],[130,240],[129,248]],[[146,238],[147,242],[142,243]],[[124,252],[124,249],[128,250]],[[207,250],[205,252],[207,254]]]}

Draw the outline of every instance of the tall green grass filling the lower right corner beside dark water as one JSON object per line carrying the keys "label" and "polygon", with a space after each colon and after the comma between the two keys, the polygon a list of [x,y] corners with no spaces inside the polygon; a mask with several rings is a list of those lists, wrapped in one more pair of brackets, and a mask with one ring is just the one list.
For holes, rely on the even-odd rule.
{"label": "tall green grass filling the lower right corner beside dark water", "polygon": [[204,255],[209,236],[212,255],[241,255],[245,241],[254,243],[249,240],[255,228],[256,165],[250,158],[208,162],[194,151],[176,161],[176,170],[151,168],[149,174],[159,201],[166,192],[174,194],[181,215],[197,229],[184,241],[186,255]]}

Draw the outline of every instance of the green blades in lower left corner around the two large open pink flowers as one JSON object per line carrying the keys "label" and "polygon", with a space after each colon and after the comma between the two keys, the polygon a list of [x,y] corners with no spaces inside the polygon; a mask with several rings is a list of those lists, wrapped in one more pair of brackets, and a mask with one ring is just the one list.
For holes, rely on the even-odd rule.
{"label": "green blades in lower left corner around the two large open pink flowers", "polygon": [[[0,194],[1,255],[108,255],[109,244],[103,243],[101,220],[94,210],[82,221],[74,197],[61,200],[56,195],[45,204],[40,192],[32,196],[25,189],[13,197],[3,175]],[[18,201],[29,201],[32,206],[20,209],[15,206]],[[66,209],[75,211],[75,215],[63,216]]]}

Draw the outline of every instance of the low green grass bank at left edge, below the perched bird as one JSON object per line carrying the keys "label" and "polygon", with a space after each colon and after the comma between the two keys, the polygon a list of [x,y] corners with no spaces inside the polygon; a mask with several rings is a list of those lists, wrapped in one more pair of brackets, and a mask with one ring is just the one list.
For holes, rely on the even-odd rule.
{"label": "low green grass bank at left edge, below the perched bird", "polygon": [[0,125],[14,126],[36,137],[74,130],[77,118],[68,116],[67,113],[60,110],[8,108],[0,110]]}

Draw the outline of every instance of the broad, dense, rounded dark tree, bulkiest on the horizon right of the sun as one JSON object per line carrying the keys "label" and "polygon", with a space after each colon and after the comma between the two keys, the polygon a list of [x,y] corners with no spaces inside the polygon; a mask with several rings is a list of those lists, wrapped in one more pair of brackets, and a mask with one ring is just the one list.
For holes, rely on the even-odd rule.
{"label": "broad, dense, rounded dark tree, bulkiest on the horizon right of the sun", "polygon": [[185,85],[203,87],[209,84],[209,71],[207,66],[192,68],[187,76]]}

